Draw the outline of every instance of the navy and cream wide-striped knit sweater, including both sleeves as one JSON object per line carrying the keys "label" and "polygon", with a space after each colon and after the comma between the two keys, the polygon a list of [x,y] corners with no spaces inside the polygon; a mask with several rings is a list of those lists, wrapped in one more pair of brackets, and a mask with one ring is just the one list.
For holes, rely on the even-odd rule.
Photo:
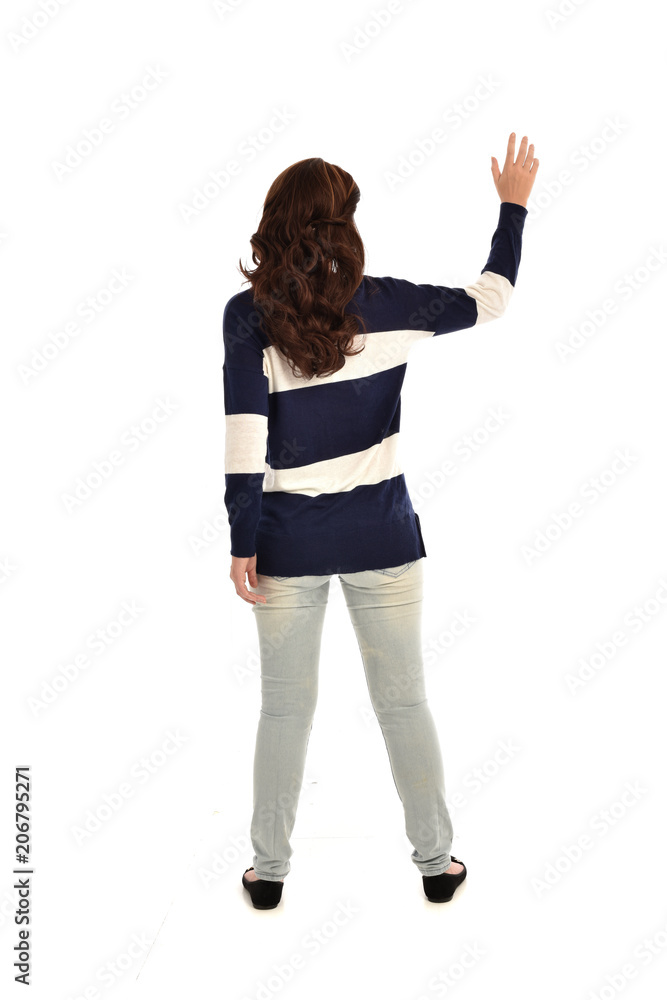
{"label": "navy and cream wide-striped knit sweater, including both sleeves", "polygon": [[223,315],[225,506],[233,556],[270,576],[354,573],[426,555],[398,453],[401,386],[419,340],[501,316],[527,209],[501,202],[489,258],[463,288],[364,275],[347,311],[368,332],[334,375],[295,378],[252,290]]}

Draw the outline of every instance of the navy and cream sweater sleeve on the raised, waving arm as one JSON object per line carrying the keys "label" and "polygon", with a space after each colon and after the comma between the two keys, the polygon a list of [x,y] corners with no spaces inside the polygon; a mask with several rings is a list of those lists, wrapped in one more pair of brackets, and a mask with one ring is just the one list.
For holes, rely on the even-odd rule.
{"label": "navy and cream sweater sleeve on the raised, waving arm", "polygon": [[501,202],[491,252],[480,277],[469,285],[450,288],[417,285],[404,278],[373,278],[382,288],[395,326],[438,335],[502,316],[516,284],[527,215],[523,205]]}

